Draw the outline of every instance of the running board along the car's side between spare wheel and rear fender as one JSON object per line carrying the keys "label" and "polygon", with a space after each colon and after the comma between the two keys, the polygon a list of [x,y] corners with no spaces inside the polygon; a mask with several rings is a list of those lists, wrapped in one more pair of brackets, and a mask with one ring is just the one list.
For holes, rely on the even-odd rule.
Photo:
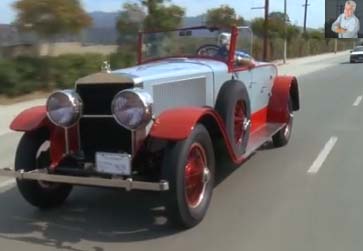
{"label": "running board along the car's side between spare wheel and rear fender", "polygon": [[267,123],[251,133],[244,157],[247,158],[257,151],[258,148],[271,139],[271,137],[280,131],[285,125],[286,124],[283,123]]}

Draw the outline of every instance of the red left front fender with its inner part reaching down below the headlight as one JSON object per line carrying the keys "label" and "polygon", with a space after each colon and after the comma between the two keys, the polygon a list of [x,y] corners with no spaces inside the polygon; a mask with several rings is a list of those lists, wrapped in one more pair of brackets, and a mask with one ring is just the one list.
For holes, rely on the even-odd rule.
{"label": "red left front fender with its inner part reaching down below the headlight", "polygon": [[[48,117],[45,106],[36,106],[21,112],[11,123],[10,129],[17,132],[32,132],[40,128],[48,128],[50,132],[51,167],[56,167],[64,157],[65,132],[63,128],[53,125]],[[69,129],[69,149],[78,150],[77,127]]]}

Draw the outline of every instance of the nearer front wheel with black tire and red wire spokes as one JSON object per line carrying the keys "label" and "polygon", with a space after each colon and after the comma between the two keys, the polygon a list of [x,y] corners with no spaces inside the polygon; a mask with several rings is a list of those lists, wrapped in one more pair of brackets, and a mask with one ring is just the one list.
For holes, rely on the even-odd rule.
{"label": "nearer front wheel with black tire and red wire spokes", "polygon": [[174,223],[191,228],[202,221],[212,197],[214,175],[213,145],[203,125],[166,149],[162,176],[169,181],[166,209]]}

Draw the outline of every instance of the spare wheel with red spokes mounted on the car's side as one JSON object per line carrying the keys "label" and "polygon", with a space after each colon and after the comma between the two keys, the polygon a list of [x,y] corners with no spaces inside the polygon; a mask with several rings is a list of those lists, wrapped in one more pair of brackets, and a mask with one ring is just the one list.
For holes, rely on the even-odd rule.
{"label": "spare wheel with red spokes mounted on the car's side", "polygon": [[219,91],[216,111],[221,115],[233,150],[245,153],[251,124],[251,106],[245,85],[237,80],[226,82]]}

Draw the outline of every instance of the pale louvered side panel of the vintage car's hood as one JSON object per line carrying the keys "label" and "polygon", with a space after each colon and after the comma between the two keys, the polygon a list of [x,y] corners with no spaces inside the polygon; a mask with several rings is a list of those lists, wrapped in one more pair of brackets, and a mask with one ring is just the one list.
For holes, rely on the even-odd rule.
{"label": "pale louvered side panel of the vintage car's hood", "polygon": [[204,77],[174,81],[153,87],[155,115],[181,106],[206,104],[206,79]]}

